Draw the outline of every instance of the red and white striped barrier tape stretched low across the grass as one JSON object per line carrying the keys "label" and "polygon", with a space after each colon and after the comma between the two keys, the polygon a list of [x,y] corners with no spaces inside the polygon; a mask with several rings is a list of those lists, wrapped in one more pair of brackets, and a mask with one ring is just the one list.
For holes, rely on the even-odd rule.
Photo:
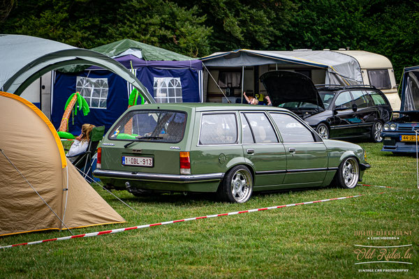
{"label": "red and white striped barrier tape stretched low across the grass", "polygon": [[[383,194],[383,193],[378,193],[378,194]],[[191,220],[214,218],[214,217],[220,217],[220,216],[230,216],[230,215],[236,215],[236,214],[241,214],[241,213],[265,211],[265,210],[270,210],[270,209],[281,209],[283,207],[289,207],[289,206],[296,206],[296,205],[303,205],[303,204],[315,204],[315,203],[318,203],[318,202],[330,202],[332,200],[337,200],[337,199],[348,199],[348,198],[351,198],[351,197],[361,197],[361,196],[364,196],[364,195],[355,195],[355,196],[349,196],[349,197],[335,197],[333,199],[321,199],[321,200],[317,200],[317,201],[314,201],[314,202],[300,202],[298,204],[285,204],[285,205],[279,205],[279,206],[270,206],[270,207],[265,207],[263,209],[250,209],[250,210],[245,210],[245,211],[235,211],[235,212],[230,212],[230,213],[222,213],[222,214],[208,215],[208,216],[202,216],[202,217],[187,218],[187,219],[182,219],[182,220],[174,220],[174,221],[155,223],[155,224],[149,224],[149,225],[140,225],[140,226],[136,226],[136,227],[124,227],[124,228],[121,228],[121,229],[110,229],[108,231],[91,232],[89,234],[78,234],[78,235],[75,235],[75,236],[64,236],[64,237],[59,237],[57,239],[45,239],[45,240],[41,240],[41,241],[32,241],[32,242],[27,242],[27,243],[13,244],[13,245],[9,245],[9,246],[0,246],[0,249],[1,248],[12,248],[12,247],[16,247],[16,246],[33,245],[33,244],[38,244],[38,243],[50,242],[50,241],[61,241],[61,240],[67,240],[67,239],[80,239],[82,237],[100,236],[100,235],[103,235],[103,234],[116,234],[118,232],[125,232],[125,231],[131,230],[131,229],[144,229],[146,227],[155,227],[155,226],[159,226],[159,225],[169,225],[169,224],[173,224],[173,223],[180,223],[180,222],[186,222],[186,221],[191,221]]]}

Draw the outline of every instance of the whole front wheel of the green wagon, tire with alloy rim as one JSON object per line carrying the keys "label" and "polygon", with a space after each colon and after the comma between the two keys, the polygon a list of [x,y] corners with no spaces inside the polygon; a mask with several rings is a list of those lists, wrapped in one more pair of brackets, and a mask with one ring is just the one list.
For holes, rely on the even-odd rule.
{"label": "whole front wheel of the green wagon, tire with alloy rim", "polygon": [[337,169],[335,182],[341,188],[353,189],[360,178],[360,164],[355,157],[346,158]]}

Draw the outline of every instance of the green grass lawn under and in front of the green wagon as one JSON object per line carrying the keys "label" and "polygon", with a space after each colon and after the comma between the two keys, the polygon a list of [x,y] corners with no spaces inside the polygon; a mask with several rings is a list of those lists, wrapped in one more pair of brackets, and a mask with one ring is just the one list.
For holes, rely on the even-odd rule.
{"label": "green grass lawn under and in front of the green wagon", "polygon": [[[253,195],[246,204],[221,203],[208,195],[138,198],[126,191],[114,192],[140,212],[135,213],[94,186],[128,223],[73,229],[75,234],[332,197],[365,196],[0,250],[0,278],[419,278],[416,158],[383,153],[382,144],[360,145],[367,150],[372,165],[363,182],[393,188],[358,186],[353,190],[263,193]],[[381,192],[385,194],[377,194]],[[409,235],[380,239],[381,231]],[[359,232],[372,232],[378,239],[368,239],[371,236]],[[0,246],[68,235],[52,231],[6,236],[0,237]],[[413,264],[355,265],[380,259],[378,248],[371,259],[357,259],[354,251],[360,247],[355,245],[408,244],[413,244],[410,258],[402,258],[408,248],[389,248],[385,255],[389,261]]]}

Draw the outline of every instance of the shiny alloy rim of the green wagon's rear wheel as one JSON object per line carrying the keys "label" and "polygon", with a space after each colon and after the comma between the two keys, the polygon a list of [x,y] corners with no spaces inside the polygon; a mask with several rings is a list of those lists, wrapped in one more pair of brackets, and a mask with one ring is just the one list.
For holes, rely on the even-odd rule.
{"label": "shiny alloy rim of the green wagon's rear wheel", "polygon": [[231,194],[236,202],[246,202],[250,195],[253,181],[247,169],[237,169],[231,179]]}

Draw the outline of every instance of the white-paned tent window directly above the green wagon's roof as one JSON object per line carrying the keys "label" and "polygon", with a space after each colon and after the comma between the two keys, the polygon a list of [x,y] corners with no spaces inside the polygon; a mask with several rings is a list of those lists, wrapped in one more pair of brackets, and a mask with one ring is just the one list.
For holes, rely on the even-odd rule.
{"label": "white-paned tent window directly above the green wagon's roof", "polygon": [[180,77],[154,77],[154,100],[156,103],[182,103]]}

